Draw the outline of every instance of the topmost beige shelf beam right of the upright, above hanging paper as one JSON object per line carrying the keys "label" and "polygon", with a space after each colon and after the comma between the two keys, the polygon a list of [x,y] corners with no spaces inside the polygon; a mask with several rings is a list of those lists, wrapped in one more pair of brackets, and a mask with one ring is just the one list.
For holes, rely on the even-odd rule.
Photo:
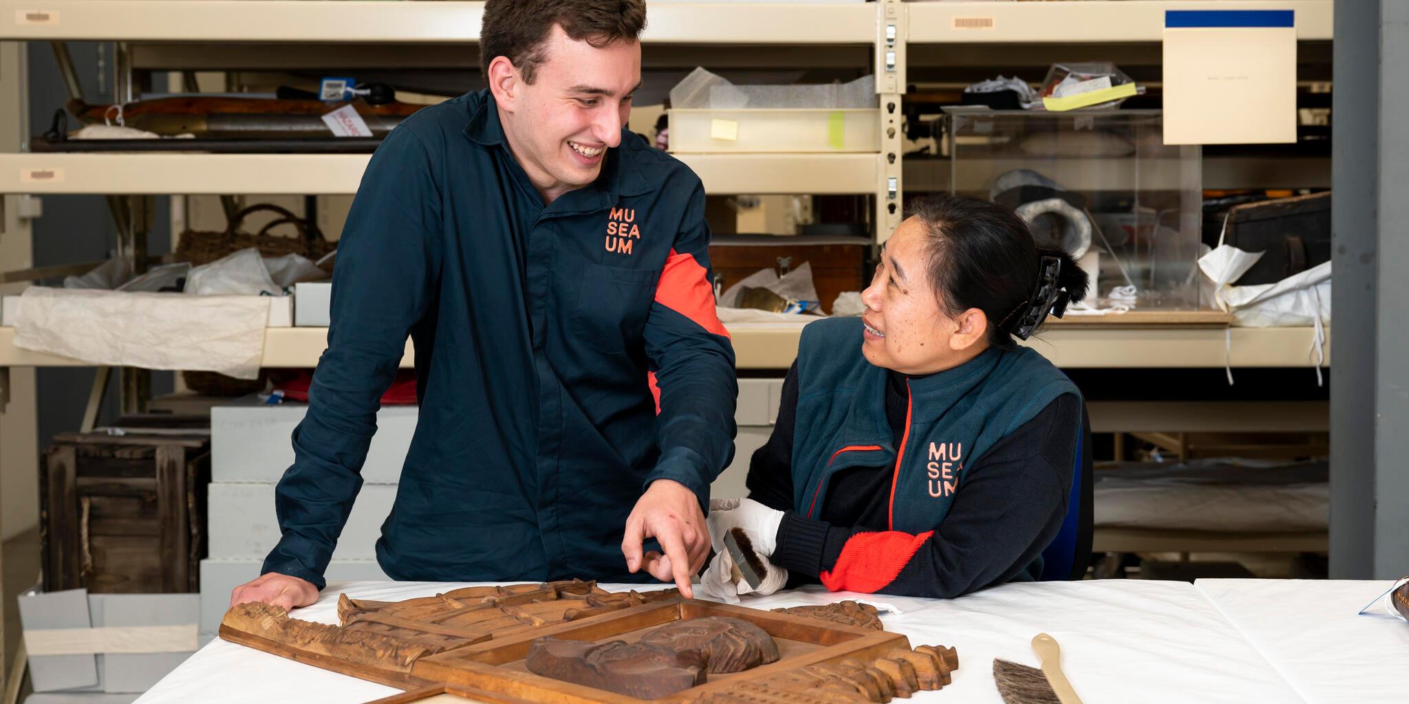
{"label": "topmost beige shelf beam right of the upright, above hanging paper", "polygon": [[1295,10],[1298,39],[1332,38],[1332,0],[907,3],[910,44],[1158,42],[1165,10]]}

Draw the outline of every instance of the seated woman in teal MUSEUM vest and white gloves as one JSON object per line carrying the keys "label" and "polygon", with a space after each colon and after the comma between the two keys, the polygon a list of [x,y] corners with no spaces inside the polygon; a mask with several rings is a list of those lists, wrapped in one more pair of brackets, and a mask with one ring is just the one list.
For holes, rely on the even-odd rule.
{"label": "seated woman in teal MUSEUM vest and white gloves", "polygon": [[[807,325],[750,498],[709,515],[720,598],[788,582],[955,597],[1033,580],[1067,514],[1082,401],[1027,338],[1086,293],[1071,256],[1038,251],[992,203],[921,200],[881,252],[865,314]],[[744,528],[752,590],[723,549]]]}

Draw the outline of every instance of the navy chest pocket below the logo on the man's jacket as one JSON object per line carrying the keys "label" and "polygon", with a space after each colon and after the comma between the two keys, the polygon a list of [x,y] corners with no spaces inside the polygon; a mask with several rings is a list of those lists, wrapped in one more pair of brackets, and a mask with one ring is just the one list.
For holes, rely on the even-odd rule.
{"label": "navy chest pocket below the logo on the man's jacket", "polygon": [[640,345],[661,272],[586,263],[573,332],[599,352],[624,355]]}

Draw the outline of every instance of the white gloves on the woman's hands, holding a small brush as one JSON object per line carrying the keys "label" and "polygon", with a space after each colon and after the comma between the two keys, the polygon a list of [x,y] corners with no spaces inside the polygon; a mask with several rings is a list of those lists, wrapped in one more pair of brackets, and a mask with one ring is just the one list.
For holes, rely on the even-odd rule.
{"label": "white gloves on the woman's hands, holding a small brush", "polygon": [[[700,576],[700,591],[728,604],[738,603],[743,594],[772,594],[788,583],[788,570],[768,560],[778,549],[778,527],[783,513],[768,508],[752,498],[714,498],[709,504],[709,538],[714,548],[714,559]],[[752,543],[754,552],[764,560],[764,582],[752,589],[741,577],[734,577],[734,559],[724,548],[724,534],[731,528],[743,528]]]}

